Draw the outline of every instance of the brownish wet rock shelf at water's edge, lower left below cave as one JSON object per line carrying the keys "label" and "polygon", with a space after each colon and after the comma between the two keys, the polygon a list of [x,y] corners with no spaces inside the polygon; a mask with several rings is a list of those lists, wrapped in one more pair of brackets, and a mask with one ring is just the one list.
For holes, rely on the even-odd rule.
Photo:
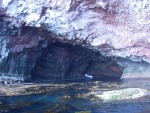
{"label": "brownish wet rock shelf at water's edge, lower left below cave", "polygon": [[[62,88],[72,87],[73,84],[57,84],[57,83],[15,83],[0,85],[0,97],[1,96],[19,96],[19,95],[32,95],[40,94],[51,91],[60,90]],[[69,97],[69,96],[68,96]],[[65,97],[64,97],[65,98]],[[67,97],[66,97],[67,99]]]}

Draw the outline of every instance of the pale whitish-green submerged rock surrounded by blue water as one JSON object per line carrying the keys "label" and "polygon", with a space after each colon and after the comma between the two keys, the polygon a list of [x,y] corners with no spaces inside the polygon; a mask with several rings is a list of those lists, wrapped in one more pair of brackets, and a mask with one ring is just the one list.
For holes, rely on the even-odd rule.
{"label": "pale whitish-green submerged rock surrounded by blue water", "polygon": [[126,88],[122,90],[104,91],[101,94],[94,94],[94,96],[104,101],[116,101],[125,99],[136,99],[139,97],[147,96],[149,94],[150,92],[146,89]]}

